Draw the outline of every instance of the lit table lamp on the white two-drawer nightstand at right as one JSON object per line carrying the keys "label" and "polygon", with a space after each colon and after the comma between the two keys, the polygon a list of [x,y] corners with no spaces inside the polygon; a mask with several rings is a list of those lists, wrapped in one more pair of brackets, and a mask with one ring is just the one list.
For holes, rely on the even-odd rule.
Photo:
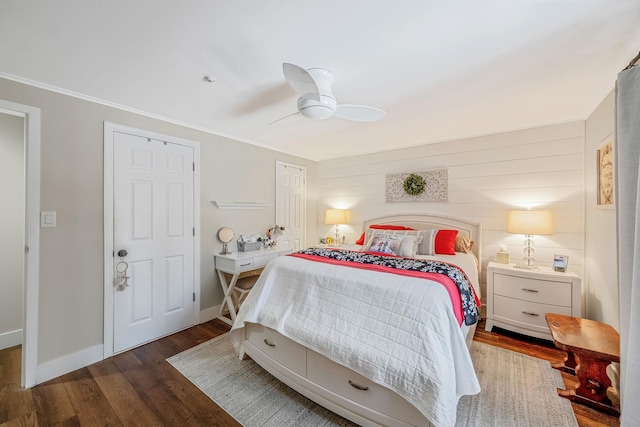
{"label": "lit table lamp on the white two-drawer nightstand at right", "polygon": [[553,220],[549,210],[512,210],[509,211],[507,220],[507,232],[524,234],[524,265],[516,265],[520,268],[533,269],[535,250],[533,249],[533,236],[553,234]]}

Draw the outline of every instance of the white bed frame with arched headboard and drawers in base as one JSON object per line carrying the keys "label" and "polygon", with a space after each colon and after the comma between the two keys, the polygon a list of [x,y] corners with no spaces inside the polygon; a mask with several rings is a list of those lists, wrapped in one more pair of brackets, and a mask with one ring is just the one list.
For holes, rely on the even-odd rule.
{"label": "white bed frame with arched headboard and drawers in base", "polygon": [[[397,214],[364,221],[371,224],[404,225],[417,230],[457,229],[470,238],[481,258],[482,230],[478,223],[430,214]],[[463,325],[467,346],[476,325]],[[326,359],[262,325],[245,328],[240,358],[249,355],[257,364],[300,394],[361,426],[431,426],[415,407],[390,389]],[[345,379],[349,379],[349,385]]]}

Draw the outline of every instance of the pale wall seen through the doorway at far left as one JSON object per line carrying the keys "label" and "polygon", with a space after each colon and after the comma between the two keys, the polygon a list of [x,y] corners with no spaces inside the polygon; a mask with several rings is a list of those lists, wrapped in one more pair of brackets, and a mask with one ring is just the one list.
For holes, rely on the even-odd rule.
{"label": "pale wall seen through the doorway at far left", "polygon": [[0,112],[0,349],[22,342],[24,118]]}

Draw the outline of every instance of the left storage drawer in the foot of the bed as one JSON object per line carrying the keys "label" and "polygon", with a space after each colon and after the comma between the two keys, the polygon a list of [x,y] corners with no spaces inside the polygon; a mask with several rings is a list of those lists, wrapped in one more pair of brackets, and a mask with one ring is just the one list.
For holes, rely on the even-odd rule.
{"label": "left storage drawer in the foot of the bed", "polygon": [[278,334],[273,329],[255,323],[248,323],[245,333],[247,341],[264,354],[296,374],[306,376],[307,349],[305,347]]}

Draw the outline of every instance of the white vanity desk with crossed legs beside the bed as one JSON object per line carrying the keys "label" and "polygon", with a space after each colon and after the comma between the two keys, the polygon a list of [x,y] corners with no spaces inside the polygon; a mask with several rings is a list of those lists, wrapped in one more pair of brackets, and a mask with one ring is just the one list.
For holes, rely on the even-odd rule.
{"label": "white vanity desk with crossed legs beside the bed", "polygon": [[[218,311],[218,319],[229,325],[233,325],[233,322],[236,320],[236,313],[240,308],[240,304],[242,303],[244,296],[249,293],[253,287],[254,280],[251,278],[247,278],[248,280],[242,279],[238,281],[241,273],[261,269],[272,259],[281,255],[290,254],[291,252],[293,251],[289,247],[276,246],[275,248],[260,249],[250,252],[232,252],[226,255],[216,254],[214,256],[216,271],[218,272],[220,285],[224,292],[224,299],[222,300],[220,310]],[[224,273],[231,275],[231,279],[228,282]],[[233,300],[234,290],[240,294],[236,302]],[[223,315],[225,302],[229,309],[229,316],[231,316],[231,319]]]}

